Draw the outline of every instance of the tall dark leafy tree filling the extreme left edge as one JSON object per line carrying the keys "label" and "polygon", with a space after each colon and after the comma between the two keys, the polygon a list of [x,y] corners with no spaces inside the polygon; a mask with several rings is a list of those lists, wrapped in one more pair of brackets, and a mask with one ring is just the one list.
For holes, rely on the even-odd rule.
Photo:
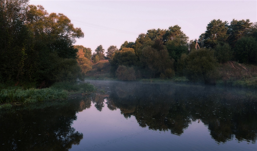
{"label": "tall dark leafy tree filling the extreme left edge", "polygon": [[27,68],[28,29],[25,8],[28,0],[0,1],[0,80],[16,79]]}

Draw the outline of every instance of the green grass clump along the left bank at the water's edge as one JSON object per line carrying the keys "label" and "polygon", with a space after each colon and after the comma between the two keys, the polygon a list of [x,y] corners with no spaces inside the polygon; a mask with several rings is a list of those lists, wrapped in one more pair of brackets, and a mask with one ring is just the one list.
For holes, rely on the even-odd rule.
{"label": "green grass clump along the left bank at the water's edge", "polygon": [[63,100],[72,94],[90,94],[96,90],[92,84],[83,82],[58,82],[49,88],[43,89],[25,89],[21,86],[1,87],[0,108],[10,107],[8,104],[18,105],[40,101]]}

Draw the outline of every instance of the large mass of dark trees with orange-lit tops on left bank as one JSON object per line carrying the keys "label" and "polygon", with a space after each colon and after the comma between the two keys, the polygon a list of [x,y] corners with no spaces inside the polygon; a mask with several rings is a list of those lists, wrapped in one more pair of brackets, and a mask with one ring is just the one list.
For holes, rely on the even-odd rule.
{"label": "large mass of dark trees with orange-lit tops on left bank", "polygon": [[90,59],[91,51],[78,57],[80,47],[73,44],[84,33],[65,15],[28,2],[0,2],[0,81],[49,85],[80,77],[80,62]]}

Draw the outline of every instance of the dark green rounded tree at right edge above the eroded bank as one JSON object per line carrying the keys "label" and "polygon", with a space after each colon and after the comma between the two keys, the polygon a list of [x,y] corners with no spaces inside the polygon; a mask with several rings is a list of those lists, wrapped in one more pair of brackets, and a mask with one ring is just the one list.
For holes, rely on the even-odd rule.
{"label": "dark green rounded tree at right edge above the eroded bank", "polygon": [[242,37],[235,44],[235,57],[240,63],[257,64],[257,39]]}

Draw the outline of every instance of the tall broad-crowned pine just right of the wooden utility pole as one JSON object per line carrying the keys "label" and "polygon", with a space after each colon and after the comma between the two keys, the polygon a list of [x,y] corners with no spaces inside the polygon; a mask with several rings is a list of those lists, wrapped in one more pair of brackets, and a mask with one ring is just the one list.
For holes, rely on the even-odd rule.
{"label": "tall broad-crowned pine just right of the wooden utility pole", "polygon": [[206,28],[207,30],[204,33],[204,47],[214,48],[218,43],[225,42],[227,40],[227,21],[222,22],[220,19],[214,19]]}

